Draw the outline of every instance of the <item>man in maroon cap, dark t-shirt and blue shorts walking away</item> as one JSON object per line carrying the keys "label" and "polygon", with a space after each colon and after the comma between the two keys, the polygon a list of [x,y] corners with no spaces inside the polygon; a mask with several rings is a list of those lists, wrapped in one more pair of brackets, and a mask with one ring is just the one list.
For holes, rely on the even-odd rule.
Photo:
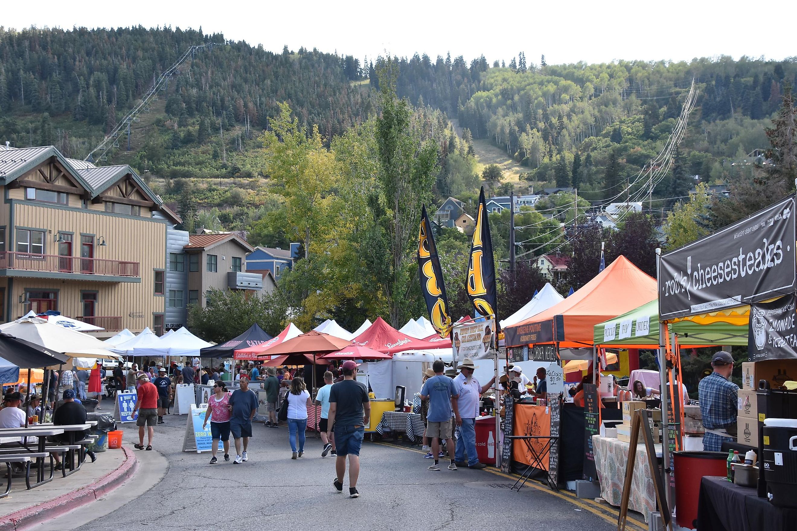
{"label": "man in maroon cap, dark t-shirt and blue shorts walking away", "polygon": [[344,361],[341,367],[344,380],[332,385],[329,391],[329,420],[327,437],[332,438],[335,428],[337,459],[335,461],[336,477],[332,485],[338,492],[344,490],[346,474],[346,456],[349,459],[349,496],[359,497],[357,478],[359,478],[359,449],[363,445],[365,424],[371,419],[371,402],[368,401],[368,389],[354,379],[357,364]]}

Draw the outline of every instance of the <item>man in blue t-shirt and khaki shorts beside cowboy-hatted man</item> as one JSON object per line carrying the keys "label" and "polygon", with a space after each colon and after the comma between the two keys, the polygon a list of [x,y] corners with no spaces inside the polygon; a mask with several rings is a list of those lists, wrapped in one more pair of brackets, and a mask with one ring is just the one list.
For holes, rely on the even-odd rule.
{"label": "man in blue t-shirt and khaki shorts beside cowboy-hatted man", "polygon": [[435,361],[432,365],[434,376],[431,377],[421,388],[421,400],[429,400],[429,412],[426,413],[426,436],[432,439],[432,455],[434,464],[427,470],[439,471],[438,451],[440,450],[440,439],[446,439],[446,448],[449,452],[451,463],[449,470],[457,470],[453,456],[453,423],[451,412],[457,424],[461,423],[459,408],[457,407],[457,391],[454,388],[451,378],[446,377],[443,371],[446,365],[442,361]]}

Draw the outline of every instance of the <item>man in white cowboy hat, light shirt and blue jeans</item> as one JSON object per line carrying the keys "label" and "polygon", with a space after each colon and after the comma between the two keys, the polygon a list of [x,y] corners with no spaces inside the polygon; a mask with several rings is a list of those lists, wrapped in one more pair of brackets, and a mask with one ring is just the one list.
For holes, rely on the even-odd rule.
{"label": "man in white cowboy hat, light shirt and blue jeans", "polygon": [[[479,416],[479,396],[487,391],[496,379],[493,377],[485,386],[479,385],[479,381],[473,377],[473,371],[477,365],[473,365],[473,360],[466,357],[457,370],[459,376],[453,379],[454,389],[457,391],[457,405],[459,407],[460,419],[459,437],[457,437],[457,451],[454,453],[454,460],[458,467],[484,468],[487,465],[479,463],[476,455],[476,417]],[[465,453],[468,454],[468,462],[465,463]]]}

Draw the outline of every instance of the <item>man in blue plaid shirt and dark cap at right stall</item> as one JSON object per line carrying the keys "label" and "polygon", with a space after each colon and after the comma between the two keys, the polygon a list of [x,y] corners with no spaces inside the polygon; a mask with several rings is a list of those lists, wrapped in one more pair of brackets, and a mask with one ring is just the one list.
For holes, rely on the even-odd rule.
{"label": "man in blue plaid shirt and dark cap at right stall", "polygon": [[711,360],[714,372],[697,386],[700,412],[703,417],[703,449],[721,451],[722,443],[736,435],[737,396],[739,387],[728,381],[733,372],[733,357],[720,350]]}

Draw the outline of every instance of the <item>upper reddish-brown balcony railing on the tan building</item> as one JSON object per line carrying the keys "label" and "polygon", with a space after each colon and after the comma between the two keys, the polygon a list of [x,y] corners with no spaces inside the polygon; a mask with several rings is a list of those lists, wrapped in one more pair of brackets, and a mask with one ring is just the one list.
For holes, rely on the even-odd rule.
{"label": "upper reddish-brown balcony railing on the tan building", "polygon": [[0,252],[0,269],[77,273],[80,275],[139,276],[138,262],[121,262],[79,256],[38,255],[33,252]]}

